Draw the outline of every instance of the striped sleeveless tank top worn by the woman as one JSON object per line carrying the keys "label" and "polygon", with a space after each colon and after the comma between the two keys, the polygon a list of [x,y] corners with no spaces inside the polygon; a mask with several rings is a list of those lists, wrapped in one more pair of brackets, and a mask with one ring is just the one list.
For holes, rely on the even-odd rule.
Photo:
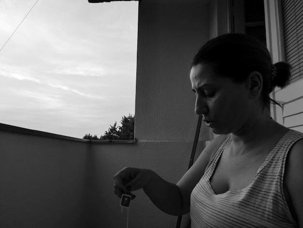
{"label": "striped sleeveless tank top worn by the woman", "polygon": [[192,191],[192,228],[298,227],[283,193],[283,176],[288,151],[302,138],[303,133],[289,130],[269,153],[247,187],[216,195],[210,178],[224,148],[231,141],[228,135]]}

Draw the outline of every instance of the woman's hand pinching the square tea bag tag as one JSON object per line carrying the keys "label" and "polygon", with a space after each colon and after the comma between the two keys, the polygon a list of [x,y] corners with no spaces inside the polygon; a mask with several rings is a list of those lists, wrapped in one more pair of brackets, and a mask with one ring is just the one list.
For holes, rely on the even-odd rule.
{"label": "woman's hand pinching the square tea bag tag", "polygon": [[148,169],[123,168],[114,176],[115,194],[120,198],[122,194],[131,195],[132,199],[134,199],[136,195],[131,192],[139,190],[148,184],[150,172],[151,170]]}

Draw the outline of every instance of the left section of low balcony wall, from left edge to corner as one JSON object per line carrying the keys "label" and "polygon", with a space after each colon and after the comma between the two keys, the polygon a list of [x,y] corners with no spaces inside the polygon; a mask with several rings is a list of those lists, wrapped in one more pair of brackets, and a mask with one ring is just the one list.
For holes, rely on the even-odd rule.
{"label": "left section of low balcony wall, from left edge to corner", "polygon": [[0,228],[89,228],[89,144],[0,130]]}

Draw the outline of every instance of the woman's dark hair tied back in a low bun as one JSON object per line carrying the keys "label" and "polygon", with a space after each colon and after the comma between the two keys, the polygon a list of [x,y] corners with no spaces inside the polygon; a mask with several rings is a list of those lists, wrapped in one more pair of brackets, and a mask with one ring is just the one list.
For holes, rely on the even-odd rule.
{"label": "woman's dark hair tied back in a low bun", "polygon": [[[258,39],[241,33],[218,36],[203,45],[195,55],[192,66],[210,64],[215,73],[243,82],[253,71],[262,75],[264,105],[269,105],[269,94],[277,87],[284,87],[290,78],[291,66],[285,62],[272,65],[271,55]],[[276,71],[273,76],[273,68]],[[276,101],[272,100],[277,104]]]}

